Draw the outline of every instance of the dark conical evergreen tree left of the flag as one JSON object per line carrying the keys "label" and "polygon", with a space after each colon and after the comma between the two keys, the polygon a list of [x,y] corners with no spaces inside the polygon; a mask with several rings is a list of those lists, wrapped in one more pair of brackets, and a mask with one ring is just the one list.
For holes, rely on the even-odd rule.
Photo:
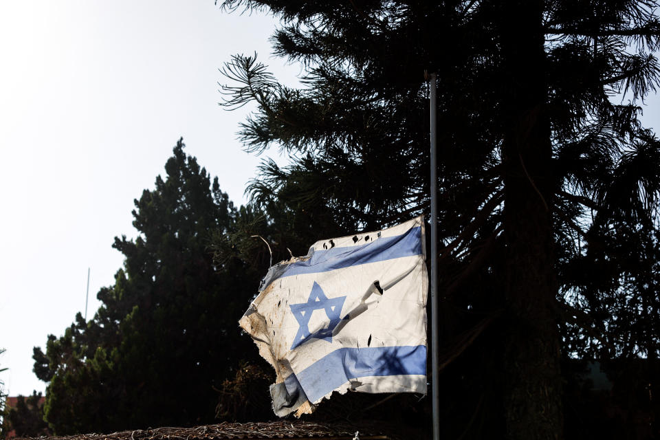
{"label": "dark conical evergreen tree left of the flag", "polygon": [[236,321],[258,285],[238,259],[214,263],[212,234],[237,212],[179,141],[166,177],[135,200],[134,240],[115,284],[98,292],[94,318],[34,350],[46,382],[45,417],[56,434],[112,432],[214,421],[217,391],[246,350]]}

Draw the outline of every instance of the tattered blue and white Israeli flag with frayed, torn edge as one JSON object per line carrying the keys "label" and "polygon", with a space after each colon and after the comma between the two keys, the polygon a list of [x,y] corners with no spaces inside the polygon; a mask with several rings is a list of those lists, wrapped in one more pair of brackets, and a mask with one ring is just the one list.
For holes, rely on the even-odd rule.
{"label": "tattered blue and white Israeli flag with frayed, torn edge", "polygon": [[239,325],[276,371],[276,415],[333,391],[426,394],[423,217],[317,241],[270,268]]}

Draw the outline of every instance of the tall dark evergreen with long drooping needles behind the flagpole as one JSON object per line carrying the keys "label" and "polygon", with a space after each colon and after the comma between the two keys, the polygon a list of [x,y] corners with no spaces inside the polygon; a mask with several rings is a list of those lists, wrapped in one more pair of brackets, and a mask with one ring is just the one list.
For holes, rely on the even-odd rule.
{"label": "tall dark evergreen with long drooping needles behind the flagpole", "polygon": [[258,106],[248,150],[293,157],[263,165],[253,201],[309,224],[428,211],[423,72],[437,72],[441,341],[447,362],[465,351],[443,376],[445,434],[561,438],[560,353],[654,362],[660,142],[638,103],[660,79],[657,1],[223,7],[280,17],[275,52],[306,69],[292,89],[235,56],[224,91]]}

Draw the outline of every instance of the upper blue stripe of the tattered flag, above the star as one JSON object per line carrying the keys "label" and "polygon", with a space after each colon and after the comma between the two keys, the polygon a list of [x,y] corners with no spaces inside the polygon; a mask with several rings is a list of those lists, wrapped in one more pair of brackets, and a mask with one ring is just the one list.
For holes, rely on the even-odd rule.
{"label": "upper blue stripe of the tattered flag, above the star", "polygon": [[421,255],[420,226],[410,228],[404,234],[380,237],[371,243],[360,246],[317,250],[307,261],[296,261],[296,263],[287,265],[285,272],[277,278],[328,272],[343,267],[376,263],[377,261],[393,260],[413,255]]}

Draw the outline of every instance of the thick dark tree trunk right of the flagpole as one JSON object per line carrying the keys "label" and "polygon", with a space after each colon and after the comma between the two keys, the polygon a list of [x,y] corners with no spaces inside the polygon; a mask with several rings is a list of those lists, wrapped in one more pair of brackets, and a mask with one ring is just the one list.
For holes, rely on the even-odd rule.
{"label": "thick dark tree trunk right of the flagpole", "polygon": [[509,439],[560,439],[554,179],[545,80],[543,2],[504,2],[498,14],[505,138],[505,419]]}

